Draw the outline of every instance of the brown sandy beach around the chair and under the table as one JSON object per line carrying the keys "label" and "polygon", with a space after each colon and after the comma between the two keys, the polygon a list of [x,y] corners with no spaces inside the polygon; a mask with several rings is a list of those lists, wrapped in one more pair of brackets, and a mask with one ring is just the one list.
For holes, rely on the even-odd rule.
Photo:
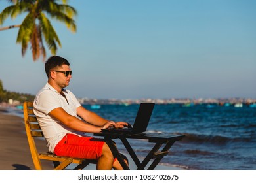
{"label": "brown sandy beach around the chair and under the table", "polygon": [[[24,129],[23,118],[0,111],[0,170],[33,170],[35,169],[30,155],[30,148]],[[37,140],[37,150],[46,152],[45,141]],[[127,156],[127,155],[126,155]],[[135,164],[129,156],[130,167],[135,169]],[[43,169],[53,169],[51,161],[42,161]],[[89,165],[85,169],[96,169]],[[158,165],[156,169],[179,169]]]}

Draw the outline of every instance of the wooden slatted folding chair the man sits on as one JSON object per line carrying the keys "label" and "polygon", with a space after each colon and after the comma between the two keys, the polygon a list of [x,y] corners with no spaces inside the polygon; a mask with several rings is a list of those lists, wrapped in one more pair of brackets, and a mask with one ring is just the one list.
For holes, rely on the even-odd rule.
{"label": "wooden slatted folding chair the man sits on", "polygon": [[34,138],[44,136],[41,127],[37,122],[37,118],[33,113],[33,103],[30,101],[24,102],[23,111],[28,144],[30,146],[30,153],[33,159],[33,164],[35,165],[35,169],[43,169],[41,165],[41,159],[53,161],[55,170],[66,169],[66,167],[72,163],[78,164],[74,169],[83,169],[89,165],[89,163],[96,163],[95,160],[56,156],[51,152],[37,152]]}

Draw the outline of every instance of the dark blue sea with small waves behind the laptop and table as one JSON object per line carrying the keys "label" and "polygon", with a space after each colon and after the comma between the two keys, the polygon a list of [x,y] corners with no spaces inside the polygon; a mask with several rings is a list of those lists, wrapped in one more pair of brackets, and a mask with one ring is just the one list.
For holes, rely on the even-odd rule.
{"label": "dark blue sea with small waves behind the laptop and table", "polygon": [[[130,124],[139,109],[139,105],[83,106],[108,120]],[[194,170],[256,169],[256,107],[156,104],[146,132],[186,135],[173,144],[161,165]],[[127,153],[121,141],[114,141],[120,152]],[[129,139],[129,143],[139,158],[154,145],[139,139]]]}

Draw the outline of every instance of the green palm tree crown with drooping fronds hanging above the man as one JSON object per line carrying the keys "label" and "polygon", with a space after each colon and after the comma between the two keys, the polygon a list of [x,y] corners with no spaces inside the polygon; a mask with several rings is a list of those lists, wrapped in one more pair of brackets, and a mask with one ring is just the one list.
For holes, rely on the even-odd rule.
{"label": "green palm tree crown with drooping fronds hanging above the man", "polygon": [[46,52],[43,46],[43,39],[46,42],[51,54],[56,54],[57,44],[61,47],[60,39],[51,24],[49,17],[66,24],[72,32],[76,31],[74,16],[77,15],[76,10],[67,5],[57,3],[58,0],[14,0],[10,1],[11,6],[6,7],[0,13],[0,25],[11,16],[16,18],[19,14],[28,13],[22,24],[2,27],[0,30],[19,27],[16,43],[22,45],[22,56],[26,54],[28,44],[31,45],[33,61],[43,56],[45,60]]}

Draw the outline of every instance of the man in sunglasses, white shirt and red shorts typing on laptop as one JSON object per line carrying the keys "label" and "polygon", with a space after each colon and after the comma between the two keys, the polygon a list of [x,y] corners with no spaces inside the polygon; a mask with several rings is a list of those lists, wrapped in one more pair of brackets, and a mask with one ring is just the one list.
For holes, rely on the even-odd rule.
{"label": "man in sunglasses, white shirt and red shorts typing on laptop", "polygon": [[103,139],[87,137],[85,133],[98,133],[108,127],[123,128],[128,124],[106,120],[83,108],[75,95],[64,89],[72,78],[66,59],[50,57],[45,63],[45,72],[48,82],[37,93],[33,106],[49,152],[58,156],[97,159],[96,169],[122,169]]}

